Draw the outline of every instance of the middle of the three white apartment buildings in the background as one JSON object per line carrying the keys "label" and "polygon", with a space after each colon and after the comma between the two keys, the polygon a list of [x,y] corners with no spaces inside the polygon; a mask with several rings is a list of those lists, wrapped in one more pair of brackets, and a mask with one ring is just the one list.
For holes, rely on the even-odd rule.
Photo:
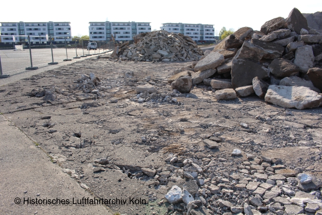
{"label": "middle of the three white apartment buildings in the background", "polygon": [[151,22],[89,22],[90,40],[129,41],[140,33],[151,32]]}

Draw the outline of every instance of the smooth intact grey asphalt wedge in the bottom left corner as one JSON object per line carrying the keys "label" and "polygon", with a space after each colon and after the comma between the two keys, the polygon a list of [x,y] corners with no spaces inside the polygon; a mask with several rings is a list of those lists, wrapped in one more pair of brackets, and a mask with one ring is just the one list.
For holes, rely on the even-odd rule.
{"label": "smooth intact grey asphalt wedge in the bottom left corner", "polygon": [[[102,204],[73,204],[95,196],[52,163],[46,152],[4,115],[0,115],[0,182],[2,215],[112,215]],[[36,198],[47,204],[29,202]],[[48,204],[56,198],[60,204]]]}

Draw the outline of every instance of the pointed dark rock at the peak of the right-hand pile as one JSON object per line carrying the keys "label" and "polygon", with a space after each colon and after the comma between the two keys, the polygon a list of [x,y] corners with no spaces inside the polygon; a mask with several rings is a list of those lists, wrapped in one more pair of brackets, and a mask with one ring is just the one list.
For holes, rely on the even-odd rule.
{"label": "pointed dark rock at the peak of the right-hand pile", "polygon": [[306,18],[302,15],[300,10],[295,7],[291,10],[285,21],[287,27],[298,34],[301,33],[302,28],[309,29]]}

